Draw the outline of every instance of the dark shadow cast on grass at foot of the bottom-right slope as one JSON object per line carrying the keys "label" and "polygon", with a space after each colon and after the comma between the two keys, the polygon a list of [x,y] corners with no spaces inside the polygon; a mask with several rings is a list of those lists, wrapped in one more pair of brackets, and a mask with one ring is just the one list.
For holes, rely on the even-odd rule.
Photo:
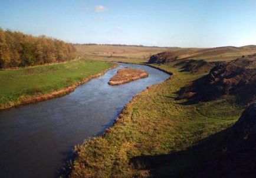
{"label": "dark shadow cast on grass at foot of the bottom-right slope", "polygon": [[225,139],[222,136],[226,132],[228,130],[216,133],[183,151],[167,155],[133,157],[130,162],[136,169],[150,170],[152,177],[197,177],[199,174],[196,176],[193,174],[204,167],[206,160],[213,160],[221,150],[220,146],[212,143],[217,140],[217,137],[221,137],[219,142],[223,142]]}

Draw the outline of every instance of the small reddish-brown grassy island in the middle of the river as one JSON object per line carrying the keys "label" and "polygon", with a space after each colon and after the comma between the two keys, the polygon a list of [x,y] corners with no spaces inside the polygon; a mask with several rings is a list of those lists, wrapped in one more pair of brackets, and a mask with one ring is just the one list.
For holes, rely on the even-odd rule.
{"label": "small reddish-brown grassy island in the middle of the river", "polygon": [[142,69],[123,68],[118,70],[116,75],[109,80],[109,85],[121,85],[133,80],[147,78],[148,76],[149,74]]}

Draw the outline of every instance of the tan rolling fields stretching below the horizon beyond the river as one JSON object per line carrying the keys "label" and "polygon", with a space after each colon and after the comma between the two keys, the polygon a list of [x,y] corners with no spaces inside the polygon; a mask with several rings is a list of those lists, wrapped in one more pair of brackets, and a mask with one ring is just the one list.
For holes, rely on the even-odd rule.
{"label": "tan rolling fields stretching below the horizon beyond the river", "polygon": [[256,46],[224,46],[219,48],[150,48],[137,46],[76,45],[77,53],[88,59],[100,61],[147,62],[153,54],[167,51],[178,59],[204,59],[229,61],[242,55],[256,53]]}

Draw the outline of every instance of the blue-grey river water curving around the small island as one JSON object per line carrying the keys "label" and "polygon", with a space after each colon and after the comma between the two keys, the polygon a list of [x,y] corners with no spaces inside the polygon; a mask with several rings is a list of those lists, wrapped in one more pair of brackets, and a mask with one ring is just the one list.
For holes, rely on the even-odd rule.
{"label": "blue-grey river water curving around the small island", "polygon": [[[119,86],[107,82],[124,67],[149,77]],[[0,112],[0,177],[58,177],[74,145],[100,135],[134,95],[169,75],[149,66],[120,63],[73,93]]]}

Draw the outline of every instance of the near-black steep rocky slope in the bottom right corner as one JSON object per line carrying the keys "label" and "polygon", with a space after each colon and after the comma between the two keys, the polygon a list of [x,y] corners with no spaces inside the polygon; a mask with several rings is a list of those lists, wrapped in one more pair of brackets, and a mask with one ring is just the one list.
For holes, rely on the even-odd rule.
{"label": "near-black steep rocky slope in the bottom right corner", "polygon": [[[223,136],[225,141],[219,147],[216,159],[206,161],[192,177],[255,177],[256,103],[245,109],[238,122]],[[212,144],[218,145],[219,140],[215,137]]]}

